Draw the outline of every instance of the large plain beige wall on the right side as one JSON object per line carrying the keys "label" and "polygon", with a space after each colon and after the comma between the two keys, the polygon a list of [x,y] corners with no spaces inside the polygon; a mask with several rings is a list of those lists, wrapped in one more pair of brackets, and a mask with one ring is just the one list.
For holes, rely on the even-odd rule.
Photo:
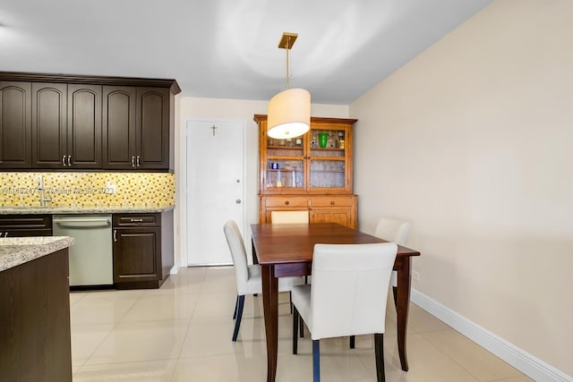
{"label": "large plain beige wall on the right side", "polygon": [[359,225],[415,289],[573,375],[573,2],[497,0],[350,105]]}

